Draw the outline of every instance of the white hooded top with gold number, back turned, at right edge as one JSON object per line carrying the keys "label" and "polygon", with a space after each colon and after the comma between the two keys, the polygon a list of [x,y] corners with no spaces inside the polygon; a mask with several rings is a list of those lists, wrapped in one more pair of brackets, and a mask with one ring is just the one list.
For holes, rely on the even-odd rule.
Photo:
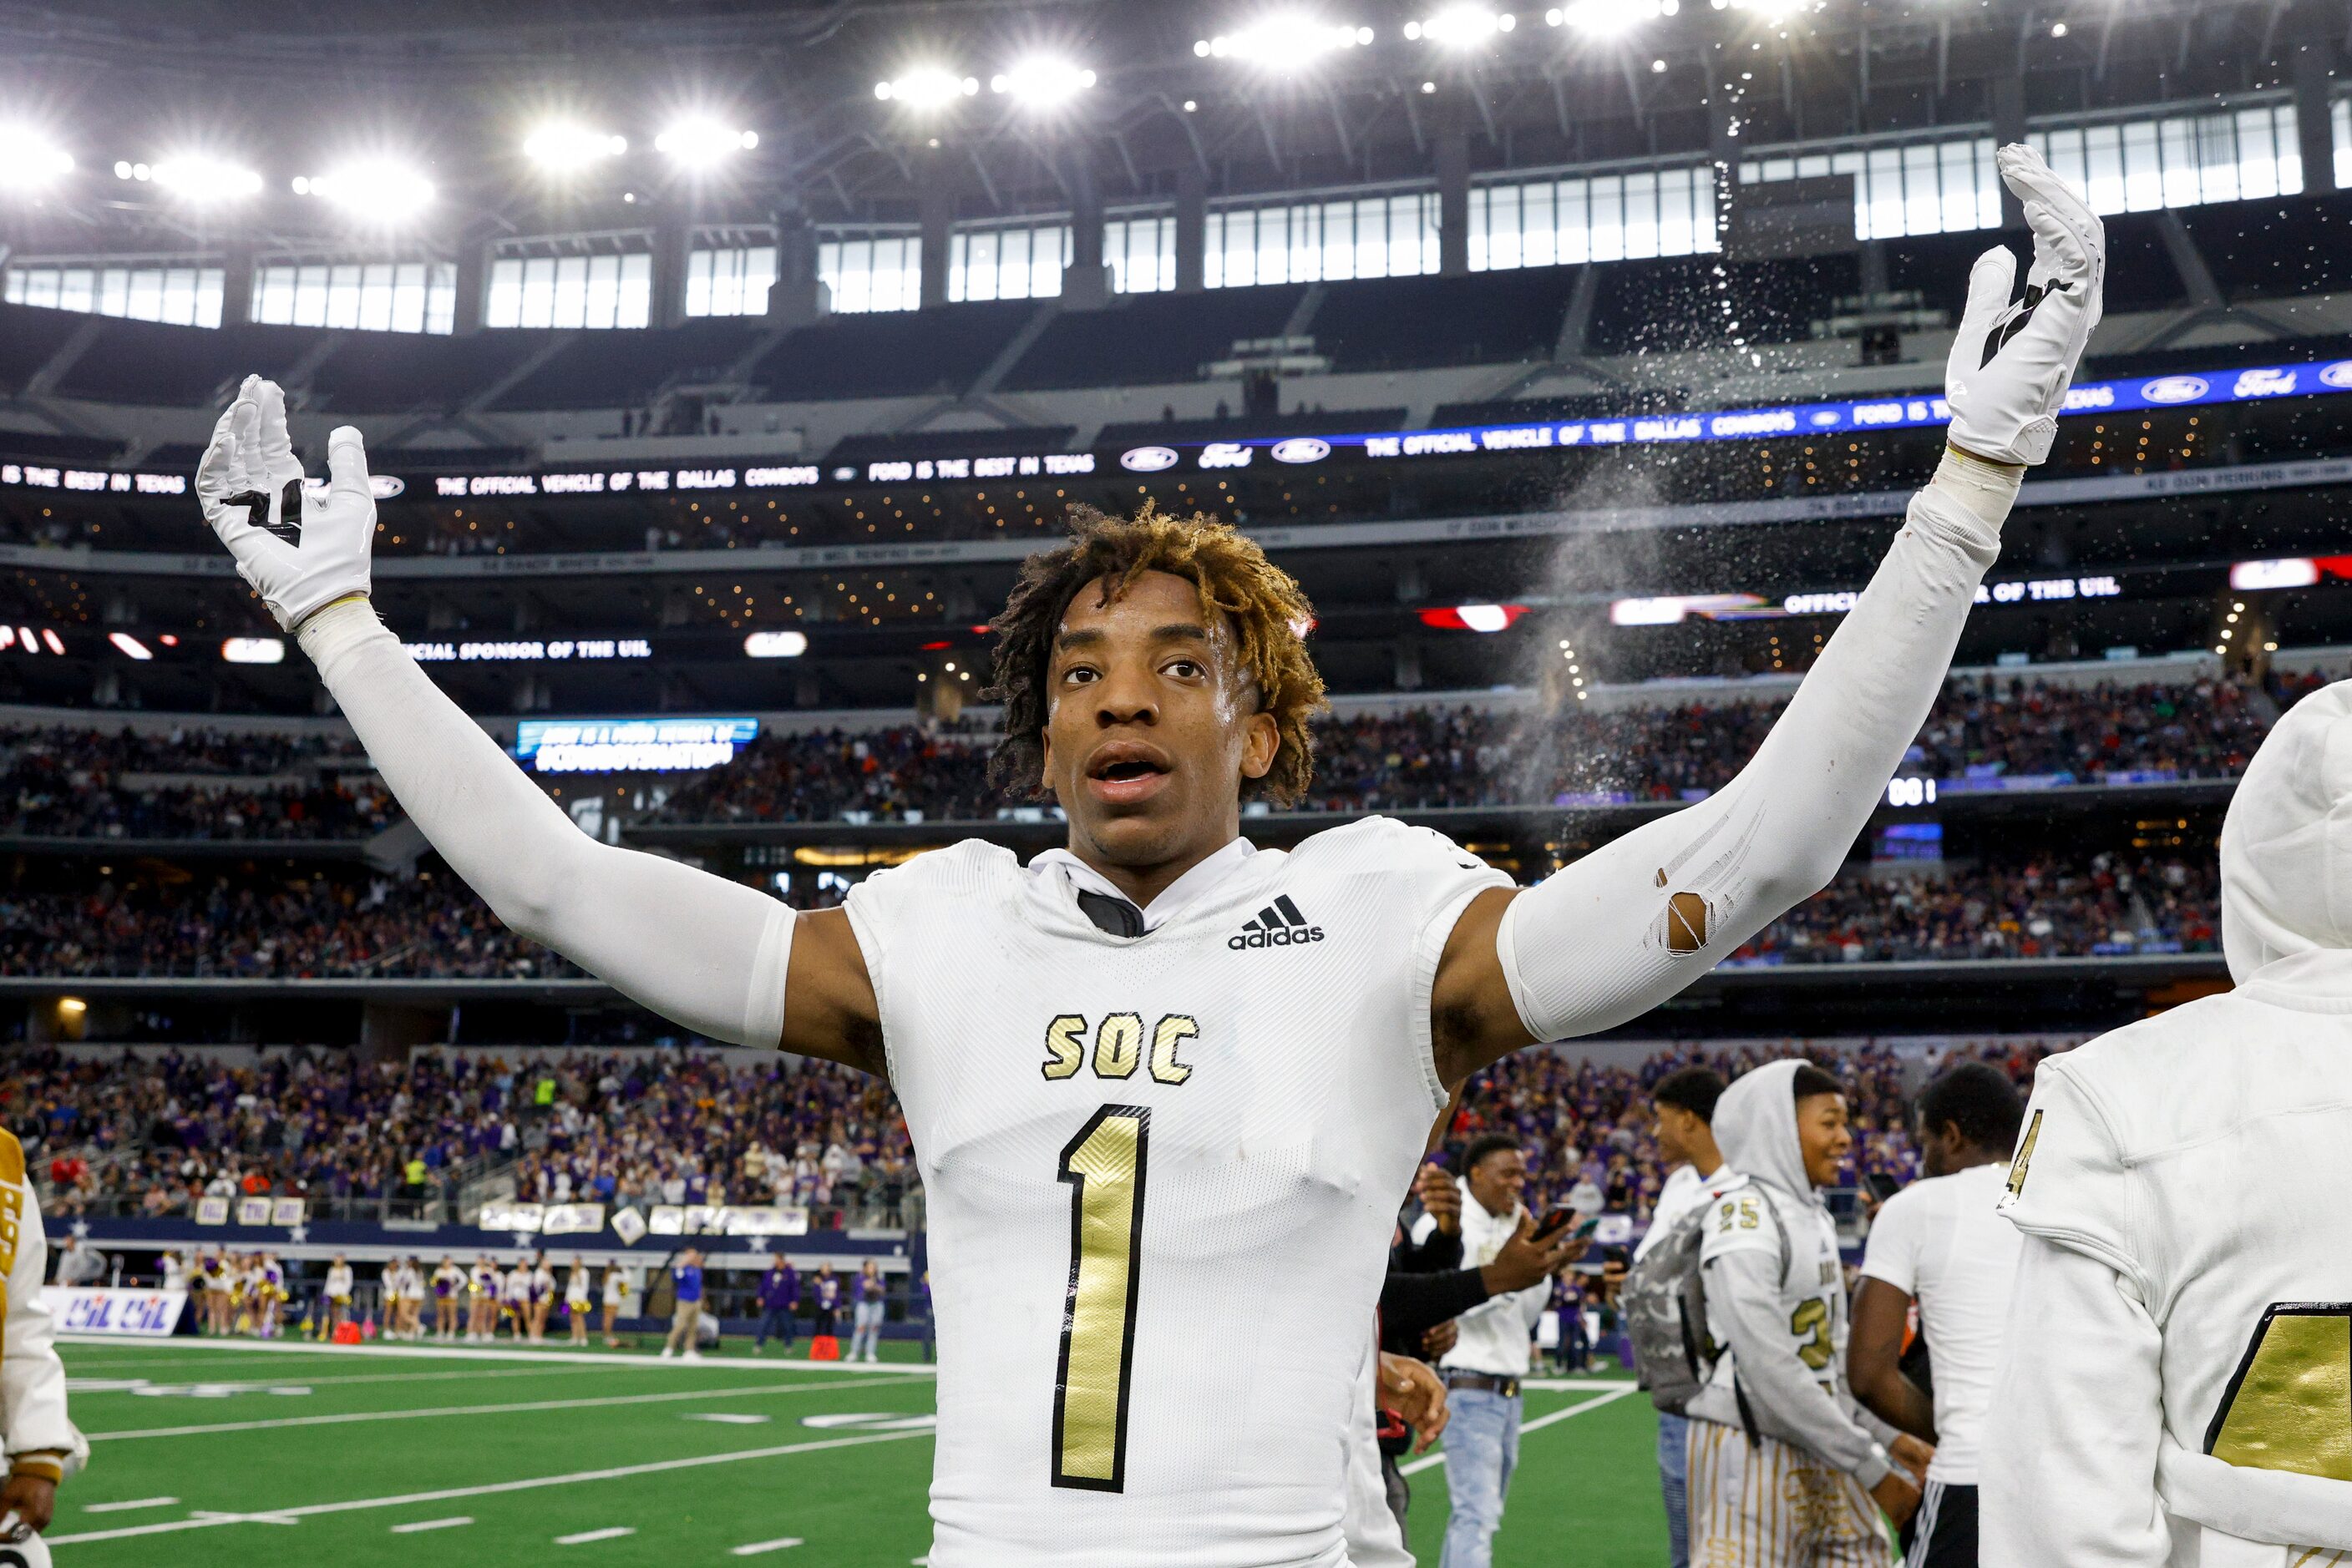
{"label": "white hooded top with gold number, back turned, at right edge", "polygon": [[2034,1079],[1987,1563],[2352,1552],[2352,682],[2256,752],[2220,875],[2237,990]]}

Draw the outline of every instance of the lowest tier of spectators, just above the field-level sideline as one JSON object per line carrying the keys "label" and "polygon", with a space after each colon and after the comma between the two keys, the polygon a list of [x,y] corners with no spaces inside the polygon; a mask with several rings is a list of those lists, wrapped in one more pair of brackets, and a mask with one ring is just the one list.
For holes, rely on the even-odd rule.
{"label": "lowest tier of spectators, just above the field-level sideline", "polygon": [[[1526,1201],[1646,1220],[1665,1171],[1646,1091],[1705,1063],[1736,1077],[1802,1048],[1849,1093],[1851,1187],[1919,1175],[1910,1095],[1924,1070],[1884,1044],[1677,1046],[1639,1067],[1519,1051],[1479,1072],[1446,1128],[1519,1140]],[[2046,1041],[1947,1044],[1936,1065],[1992,1060],[2020,1088]],[[26,1145],[49,1215],[186,1215],[202,1197],[454,1201],[463,1178],[536,1204],[802,1206],[818,1227],[922,1225],[922,1178],[889,1086],[828,1063],[731,1065],[696,1051],[574,1051],[506,1060],[421,1048],[407,1060],[292,1048],[252,1065],[205,1051],[136,1058],[21,1048],[0,1121]]]}

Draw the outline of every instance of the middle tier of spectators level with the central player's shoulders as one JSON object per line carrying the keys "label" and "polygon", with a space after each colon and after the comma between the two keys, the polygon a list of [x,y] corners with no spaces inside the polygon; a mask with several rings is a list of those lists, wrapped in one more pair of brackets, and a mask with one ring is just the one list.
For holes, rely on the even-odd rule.
{"label": "middle tier of spectators level with the central player's shoulders", "polygon": [[[567,978],[564,959],[515,936],[447,877],[207,886],[101,882],[87,893],[0,896],[0,973],[49,976],[412,976]],[[847,896],[795,877],[788,903]],[[2004,856],[1867,870],[1757,933],[1733,964],[1882,959],[2049,959],[2211,952],[2218,945],[2211,851]]]}

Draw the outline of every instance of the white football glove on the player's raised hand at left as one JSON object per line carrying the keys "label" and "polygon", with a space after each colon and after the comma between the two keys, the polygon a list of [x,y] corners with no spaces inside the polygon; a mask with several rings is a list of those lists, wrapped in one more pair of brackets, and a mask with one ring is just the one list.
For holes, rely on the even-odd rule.
{"label": "white football glove on the player's raised hand at left", "polygon": [[[303,494],[287,437],[287,397],[275,381],[247,376],[238,388],[195,468],[195,498],[238,557],[238,576],[282,630],[292,632],[336,599],[367,597],[367,550],[376,538],[367,447],[358,430],[339,425],[327,437],[327,489]],[[292,529],[296,543],[270,527]]]}

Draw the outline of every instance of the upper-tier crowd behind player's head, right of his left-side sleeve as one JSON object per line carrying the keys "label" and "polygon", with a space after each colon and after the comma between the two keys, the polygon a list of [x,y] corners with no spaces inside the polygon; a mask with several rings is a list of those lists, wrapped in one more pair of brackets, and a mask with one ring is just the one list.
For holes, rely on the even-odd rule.
{"label": "upper-tier crowd behind player's head, right of his left-side sleeve", "polygon": [[[2270,729],[2277,693],[2234,682],[2060,686],[2042,679],[1955,679],[1905,771],[2051,783],[2230,778]],[[1780,703],[1571,708],[1529,717],[1472,708],[1327,717],[1315,726],[1308,811],[1686,799],[1719,790],[1755,755]],[[764,736],[661,809],[670,823],[804,823],[861,811],[875,820],[990,818],[993,736],[922,729]]]}

